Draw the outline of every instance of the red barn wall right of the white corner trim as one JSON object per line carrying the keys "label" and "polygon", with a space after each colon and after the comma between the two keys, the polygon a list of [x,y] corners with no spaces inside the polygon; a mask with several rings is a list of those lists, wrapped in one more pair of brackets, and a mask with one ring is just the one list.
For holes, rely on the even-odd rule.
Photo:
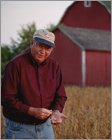
{"label": "red barn wall right of the white corner trim", "polygon": [[86,51],[86,86],[111,85],[111,52]]}

